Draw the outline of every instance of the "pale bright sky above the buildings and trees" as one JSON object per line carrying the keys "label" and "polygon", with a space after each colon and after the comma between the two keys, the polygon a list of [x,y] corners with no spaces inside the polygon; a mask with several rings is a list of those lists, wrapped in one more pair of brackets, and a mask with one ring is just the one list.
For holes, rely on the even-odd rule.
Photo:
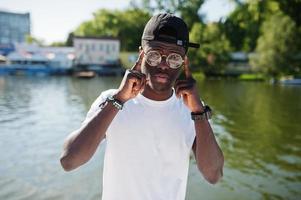
{"label": "pale bright sky above the buildings and trees", "polygon": [[[46,44],[65,41],[80,23],[100,8],[125,9],[130,0],[0,0],[0,10],[29,12],[31,34]],[[207,21],[218,21],[234,8],[230,0],[206,0],[201,7]]]}

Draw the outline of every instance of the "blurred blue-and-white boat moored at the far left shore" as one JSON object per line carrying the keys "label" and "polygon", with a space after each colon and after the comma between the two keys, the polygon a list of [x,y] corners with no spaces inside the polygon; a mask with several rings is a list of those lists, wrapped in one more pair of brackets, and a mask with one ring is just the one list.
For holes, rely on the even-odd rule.
{"label": "blurred blue-and-white boat moored at the far left shore", "polygon": [[73,48],[17,46],[0,63],[2,75],[66,75],[72,71]]}

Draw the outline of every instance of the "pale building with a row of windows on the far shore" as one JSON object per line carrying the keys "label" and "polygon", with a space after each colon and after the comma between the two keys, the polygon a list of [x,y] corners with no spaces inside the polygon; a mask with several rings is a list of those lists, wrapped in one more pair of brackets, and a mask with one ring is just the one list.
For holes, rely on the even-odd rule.
{"label": "pale building with a row of windows on the far shore", "polygon": [[73,38],[75,64],[102,66],[119,63],[120,41],[113,37]]}

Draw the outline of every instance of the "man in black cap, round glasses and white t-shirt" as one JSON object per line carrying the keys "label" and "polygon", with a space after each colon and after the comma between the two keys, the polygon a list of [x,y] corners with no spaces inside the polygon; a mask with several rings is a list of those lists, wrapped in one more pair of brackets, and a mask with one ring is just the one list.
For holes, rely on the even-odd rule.
{"label": "man in black cap, round glasses and white t-shirt", "polygon": [[[185,56],[185,22],[171,14],[146,24],[138,61],[117,90],[95,100],[64,145],[66,171],[86,163],[106,140],[103,200],[184,200],[192,149],[205,179],[222,177],[224,158]],[[177,80],[184,70],[183,80]]]}

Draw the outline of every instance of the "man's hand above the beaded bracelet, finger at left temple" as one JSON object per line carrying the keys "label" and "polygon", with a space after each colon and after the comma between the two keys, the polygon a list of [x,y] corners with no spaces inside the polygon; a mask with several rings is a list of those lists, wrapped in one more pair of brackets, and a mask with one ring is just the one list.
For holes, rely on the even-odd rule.
{"label": "man's hand above the beaded bracelet, finger at left temple", "polygon": [[123,80],[119,86],[119,91],[115,95],[115,98],[123,103],[136,97],[139,92],[144,89],[146,76],[141,72],[143,55],[144,53],[141,50],[135,65],[132,69],[126,70]]}

